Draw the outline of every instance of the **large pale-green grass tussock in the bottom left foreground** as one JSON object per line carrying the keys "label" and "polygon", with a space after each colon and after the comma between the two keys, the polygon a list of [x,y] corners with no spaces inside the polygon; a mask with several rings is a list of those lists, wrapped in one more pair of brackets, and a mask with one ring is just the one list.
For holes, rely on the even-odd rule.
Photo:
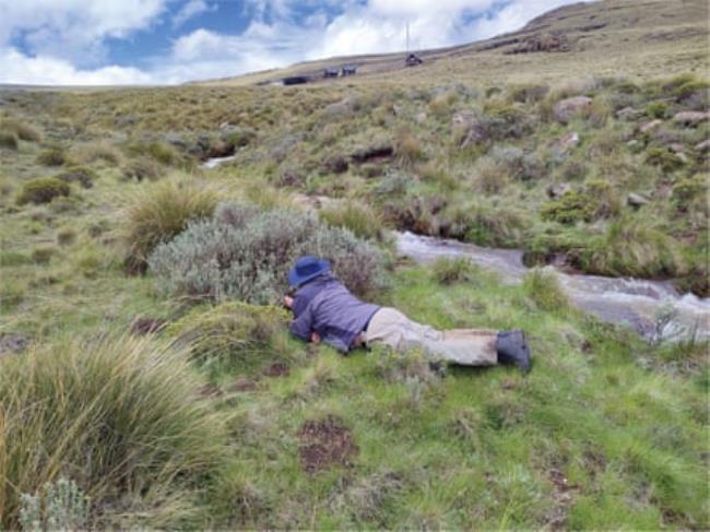
{"label": "large pale-green grass tussock in the bottom left foreground", "polygon": [[225,419],[197,400],[202,380],[185,350],[135,338],[64,342],[0,367],[3,528],[17,528],[21,494],[61,475],[109,522],[116,508],[146,511],[147,522],[165,511],[176,523],[187,492],[225,458]]}

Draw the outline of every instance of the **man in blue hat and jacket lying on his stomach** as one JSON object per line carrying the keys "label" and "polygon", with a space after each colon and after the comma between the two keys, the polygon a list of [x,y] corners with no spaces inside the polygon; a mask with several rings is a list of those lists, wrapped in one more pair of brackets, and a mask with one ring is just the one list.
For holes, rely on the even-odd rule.
{"label": "man in blue hat and jacket lying on his stomach", "polygon": [[419,347],[433,360],[465,366],[518,366],[530,370],[530,350],[521,329],[438,331],[412,321],[394,308],[379,307],[356,298],[317,257],[301,257],[288,273],[296,292],[284,296],[294,314],[291,332],[306,341],[332,345],[342,353],[356,347],[384,344],[405,352]]}

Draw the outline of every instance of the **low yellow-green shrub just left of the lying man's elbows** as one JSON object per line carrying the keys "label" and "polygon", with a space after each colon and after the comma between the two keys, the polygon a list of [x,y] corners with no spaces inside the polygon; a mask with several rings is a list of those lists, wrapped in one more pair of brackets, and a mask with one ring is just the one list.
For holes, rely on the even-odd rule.
{"label": "low yellow-green shrub just left of the lying man's elbows", "polygon": [[274,336],[287,323],[288,314],[279,307],[225,302],[191,310],[166,333],[188,345],[201,362],[223,359],[249,366],[273,353]]}

